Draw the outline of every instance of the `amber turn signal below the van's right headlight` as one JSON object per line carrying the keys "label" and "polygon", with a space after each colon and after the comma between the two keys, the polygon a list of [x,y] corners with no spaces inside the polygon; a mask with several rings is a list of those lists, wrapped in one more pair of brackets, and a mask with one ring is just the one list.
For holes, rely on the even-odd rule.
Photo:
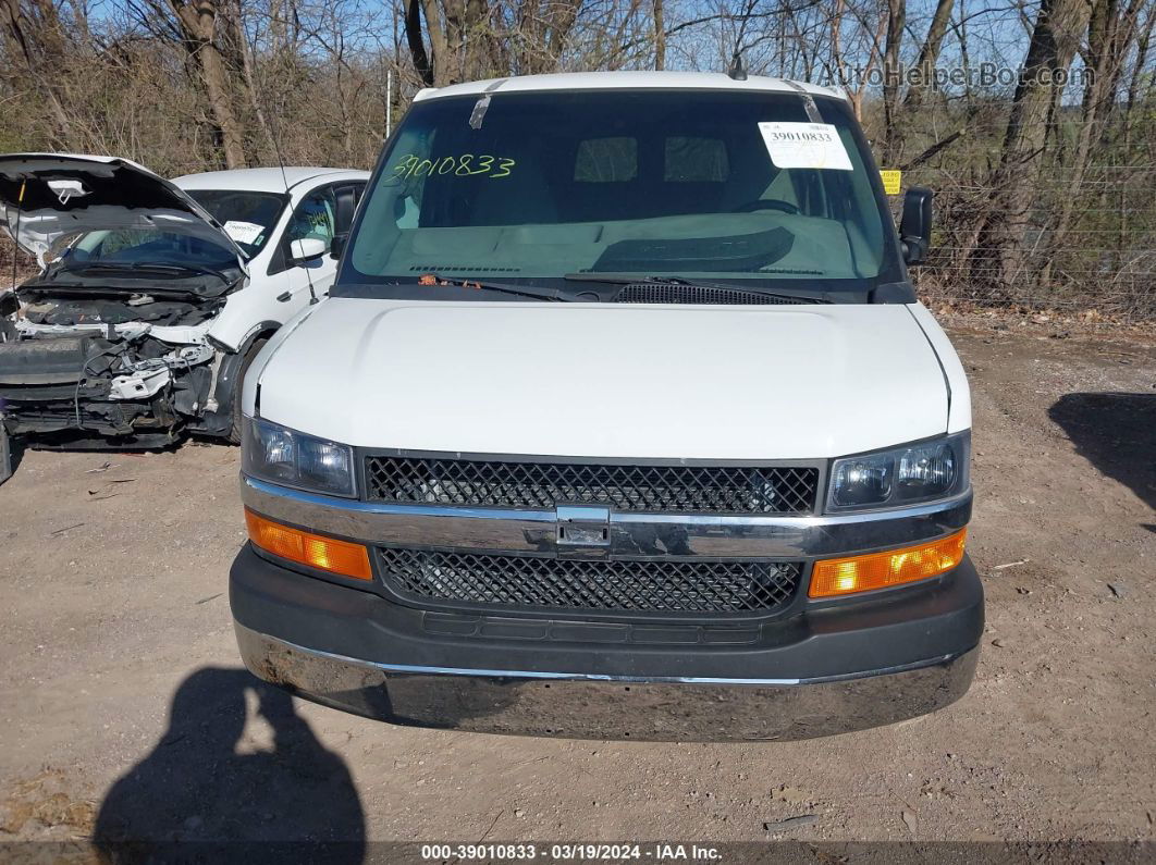
{"label": "amber turn signal below the van's right headlight", "polygon": [[816,561],[807,594],[813,598],[832,598],[939,576],[963,561],[966,535],[968,530],[961,529],[927,544]]}

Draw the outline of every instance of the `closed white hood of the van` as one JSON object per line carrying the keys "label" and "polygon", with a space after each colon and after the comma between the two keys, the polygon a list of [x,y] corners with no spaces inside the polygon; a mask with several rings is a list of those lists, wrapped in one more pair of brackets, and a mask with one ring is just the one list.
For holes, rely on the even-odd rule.
{"label": "closed white hood of the van", "polygon": [[329,298],[275,342],[261,417],[373,448],[820,458],[948,427],[943,372],[902,305]]}

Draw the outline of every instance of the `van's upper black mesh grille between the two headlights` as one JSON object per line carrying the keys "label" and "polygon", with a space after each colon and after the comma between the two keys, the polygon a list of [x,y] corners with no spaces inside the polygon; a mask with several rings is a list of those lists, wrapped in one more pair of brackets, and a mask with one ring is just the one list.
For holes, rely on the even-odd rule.
{"label": "van's upper black mesh grille between the two headlights", "polygon": [[606,465],[370,456],[379,501],[553,508],[606,505],[649,513],[808,514],[810,467]]}

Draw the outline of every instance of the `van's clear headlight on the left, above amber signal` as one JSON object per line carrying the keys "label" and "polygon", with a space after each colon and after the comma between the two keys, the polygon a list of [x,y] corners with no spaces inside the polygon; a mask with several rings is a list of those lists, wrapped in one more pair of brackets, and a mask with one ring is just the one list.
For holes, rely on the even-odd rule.
{"label": "van's clear headlight on the left, above amber signal", "polygon": [[273,484],[331,495],[357,493],[353,449],[348,445],[268,420],[246,418],[240,463],[246,475]]}

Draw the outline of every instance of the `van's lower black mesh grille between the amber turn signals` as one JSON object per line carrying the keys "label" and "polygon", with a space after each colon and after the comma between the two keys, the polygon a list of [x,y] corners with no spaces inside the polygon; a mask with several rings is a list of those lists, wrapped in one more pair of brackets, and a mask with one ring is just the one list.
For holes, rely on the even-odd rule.
{"label": "van's lower black mesh grille between the amber turn signals", "polygon": [[799,562],[585,561],[380,547],[403,596],[495,606],[627,612],[766,612],[787,603]]}

